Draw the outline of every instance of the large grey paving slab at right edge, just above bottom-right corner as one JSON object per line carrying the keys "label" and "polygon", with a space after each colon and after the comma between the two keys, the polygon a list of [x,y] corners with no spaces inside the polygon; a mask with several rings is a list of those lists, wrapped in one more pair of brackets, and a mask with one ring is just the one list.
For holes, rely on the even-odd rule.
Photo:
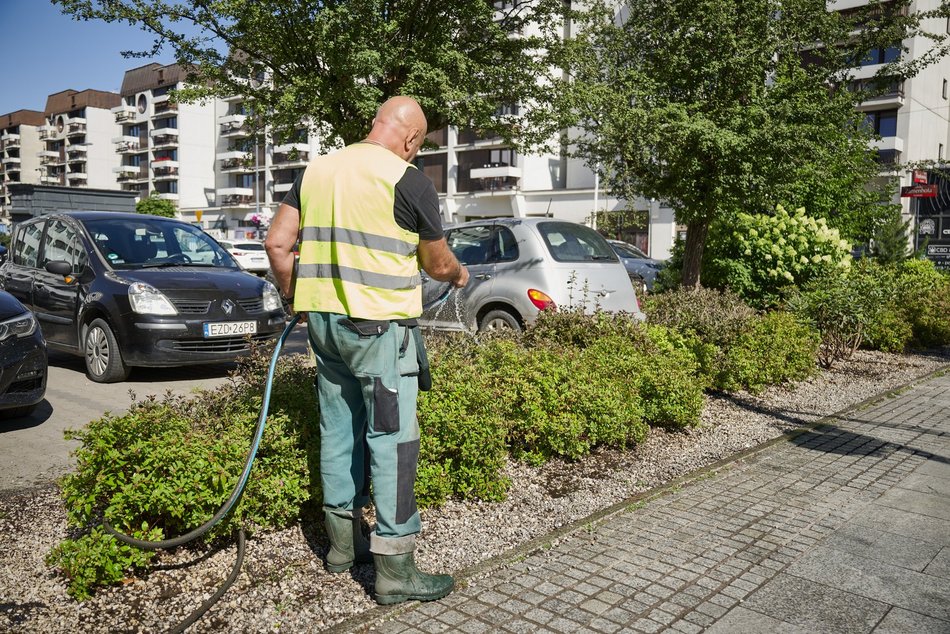
{"label": "large grey paving slab at right edge, just above bottom-right corner", "polygon": [[789,574],[855,595],[950,620],[950,584],[870,557],[819,546]]}

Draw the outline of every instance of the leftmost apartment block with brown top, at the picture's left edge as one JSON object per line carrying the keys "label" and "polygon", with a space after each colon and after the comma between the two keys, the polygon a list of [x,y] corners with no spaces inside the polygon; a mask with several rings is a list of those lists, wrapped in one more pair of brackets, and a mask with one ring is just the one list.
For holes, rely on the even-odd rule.
{"label": "leftmost apartment block with brown top, at the picture's left edge", "polygon": [[40,182],[43,149],[39,128],[46,115],[37,110],[17,110],[0,116],[0,220],[9,222],[10,185]]}

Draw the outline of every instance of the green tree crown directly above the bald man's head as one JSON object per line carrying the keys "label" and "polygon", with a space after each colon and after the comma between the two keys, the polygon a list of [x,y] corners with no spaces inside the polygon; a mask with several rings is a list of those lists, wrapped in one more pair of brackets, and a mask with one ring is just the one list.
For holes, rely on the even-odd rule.
{"label": "green tree crown directly above the bald man's head", "polygon": [[[543,104],[556,69],[548,42],[561,32],[561,0],[53,0],[79,20],[140,26],[147,57],[171,47],[190,70],[179,100],[242,95],[250,124],[277,142],[309,122],[330,142],[369,131],[394,95],[419,100],[429,129],[471,125],[506,139],[523,133],[505,104]],[[504,8],[496,9],[494,5]]]}

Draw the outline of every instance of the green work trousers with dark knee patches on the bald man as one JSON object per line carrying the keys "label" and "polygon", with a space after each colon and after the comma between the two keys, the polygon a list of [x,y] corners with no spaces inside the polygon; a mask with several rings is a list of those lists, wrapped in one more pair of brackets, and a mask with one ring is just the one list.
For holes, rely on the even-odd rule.
{"label": "green work trousers with dark knee patches on the bald man", "polygon": [[417,534],[419,363],[412,333],[396,322],[335,313],[307,313],[307,324],[317,358],[324,508],[365,506],[372,482],[375,536]]}

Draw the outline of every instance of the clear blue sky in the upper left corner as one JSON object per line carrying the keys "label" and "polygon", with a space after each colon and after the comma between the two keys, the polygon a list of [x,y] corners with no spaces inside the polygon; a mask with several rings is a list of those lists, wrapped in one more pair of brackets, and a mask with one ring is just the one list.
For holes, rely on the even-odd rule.
{"label": "clear blue sky in the upper left corner", "polygon": [[160,57],[122,57],[121,51],[151,47],[148,33],[127,24],[77,22],[49,0],[0,0],[0,115],[46,108],[46,97],[72,88],[118,92],[126,70],[174,62]]}

